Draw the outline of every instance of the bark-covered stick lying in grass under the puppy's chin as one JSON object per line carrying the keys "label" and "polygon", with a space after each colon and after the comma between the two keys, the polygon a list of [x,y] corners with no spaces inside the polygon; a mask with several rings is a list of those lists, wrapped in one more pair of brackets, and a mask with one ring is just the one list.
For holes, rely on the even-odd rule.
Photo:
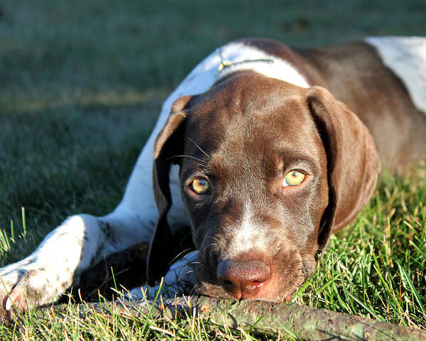
{"label": "bark-covered stick lying in grass under the puppy's chin", "polygon": [[[53,308],[65,313],[67,305]],[[195,313],[211,325],[243,328],[255,334],[293,335],[302,340],[426,340],[426,331],[378,320],[361,318],[330,310],[307,308],[296,304],[263,301],[230,301],[205,296],[178,297],[162,303],[132,301],[121,303],[87,303],[78,305],[81,315],[109,313],[122,316],[185,318]],[[38,310],[39,317],[52,310]]]}

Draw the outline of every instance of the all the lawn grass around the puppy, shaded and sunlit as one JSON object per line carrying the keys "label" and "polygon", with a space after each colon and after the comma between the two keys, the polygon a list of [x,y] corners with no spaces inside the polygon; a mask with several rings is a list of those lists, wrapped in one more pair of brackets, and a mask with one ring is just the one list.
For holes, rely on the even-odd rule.
{"label": "all the lawn grass around the puppy, shaded and sunlit", "polygon": [[[33,251],[67,215],[115,207],[163,99],[217,46],[242,36],[289,45],[425,36],[425,11],[422,0],[2,1],[0,266]],[[425,173],[422,165],[408,178],[383,176],[294,301],[426,329]],[[192,318],[89,322],[72,313],[0,326],[1,340],[67,337],[253,336]]]}

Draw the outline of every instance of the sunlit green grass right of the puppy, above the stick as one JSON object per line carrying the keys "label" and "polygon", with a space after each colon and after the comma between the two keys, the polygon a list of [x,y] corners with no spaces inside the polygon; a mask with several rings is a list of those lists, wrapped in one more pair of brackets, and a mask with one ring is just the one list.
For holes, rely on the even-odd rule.
{"label": "sunlit green grass right of the puppy, above the stick", "polygon": [[407,178],[382,176],[296,301],[426,329],[425,197],[424,164]]}

